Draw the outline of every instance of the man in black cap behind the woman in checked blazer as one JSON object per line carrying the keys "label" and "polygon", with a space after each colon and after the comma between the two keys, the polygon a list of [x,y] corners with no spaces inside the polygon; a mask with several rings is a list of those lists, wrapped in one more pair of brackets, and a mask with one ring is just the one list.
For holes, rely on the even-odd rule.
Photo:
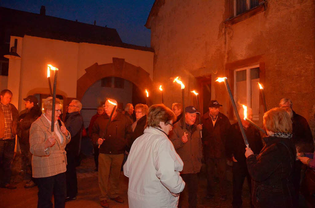
{"label": "man in black cap behind the woman in checked blazer", "polygon": [[[20,115],[19,121],[19,144],[23,159],[23,169],[29,172],[30,177],[32,175],[31,160],[32,154],[30,152],[30,128],[31,124],[36,121],[38,117],[42,115],[42,111],[38,106],[38,100],[35,96],[29,95],[23,99],[25,101],[26,112]],[[34,187],[36,184],[30,178],[24,188]]]}

